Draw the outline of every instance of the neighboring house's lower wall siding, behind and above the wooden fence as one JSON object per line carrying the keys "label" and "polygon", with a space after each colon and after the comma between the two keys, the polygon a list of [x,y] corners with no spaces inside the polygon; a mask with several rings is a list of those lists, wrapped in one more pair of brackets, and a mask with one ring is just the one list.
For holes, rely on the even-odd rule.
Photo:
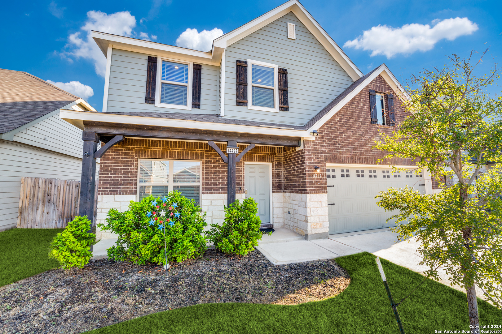
{"label": "neighboring house's lower wall siding, behind and above the wooden fence", "polygon": [[81,158],[0,139],[0,230],[17,223],[21,177],[80,180],[81,170]]}

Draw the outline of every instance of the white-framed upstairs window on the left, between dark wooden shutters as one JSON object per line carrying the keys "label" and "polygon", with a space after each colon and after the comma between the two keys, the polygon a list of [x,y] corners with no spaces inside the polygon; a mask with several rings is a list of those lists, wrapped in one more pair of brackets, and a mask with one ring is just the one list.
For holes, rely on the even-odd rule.
{"label": "white-framed upstairs window on the left, between dark wooden shutters", "polygon": [[191,63],[162,60],[157,87],[159,107],[191,109]]}

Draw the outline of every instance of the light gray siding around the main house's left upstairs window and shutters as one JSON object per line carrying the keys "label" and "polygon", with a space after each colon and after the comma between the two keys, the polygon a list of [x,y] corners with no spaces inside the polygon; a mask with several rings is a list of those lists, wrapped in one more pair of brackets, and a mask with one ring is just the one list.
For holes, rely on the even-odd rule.
{"label": "light gray siding around the main house's left upstairs window and shutters", "polygon": [[[113,49],[107,112],[170,112],[216,114],[218,98],[218,68],[202,65],[200,109],[183,110],[155,107],[145,103],[148,55]],[[161,70],[158,64],[157,71]],[[190,74],[191,75],[191,74]],[[160,89],[157,87],[157,89]]]}

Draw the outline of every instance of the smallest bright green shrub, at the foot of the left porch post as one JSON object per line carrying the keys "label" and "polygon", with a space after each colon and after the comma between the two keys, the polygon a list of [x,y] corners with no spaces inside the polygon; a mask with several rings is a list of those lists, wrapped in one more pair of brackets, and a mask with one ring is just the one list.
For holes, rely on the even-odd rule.
{"label": "smallest bright green shrub, at the foot of the left porch post", "polygon": [[96,236],[87,233],[90,226],[87,216],[76,216],[54,237],[49,256],[58,260],[63,269],[83,268],[92,257],[90,245],[96,242]]}

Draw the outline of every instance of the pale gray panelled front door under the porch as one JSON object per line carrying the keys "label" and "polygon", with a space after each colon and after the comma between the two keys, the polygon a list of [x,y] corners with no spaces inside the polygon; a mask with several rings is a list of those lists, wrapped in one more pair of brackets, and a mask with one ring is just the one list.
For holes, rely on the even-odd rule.
{"label": "pale gray panelled front door under the porch", "polygon": [[270,176],[269,165],[245,165],[246,198],[258,203],[257,216],[262,224],[270,223]]}

